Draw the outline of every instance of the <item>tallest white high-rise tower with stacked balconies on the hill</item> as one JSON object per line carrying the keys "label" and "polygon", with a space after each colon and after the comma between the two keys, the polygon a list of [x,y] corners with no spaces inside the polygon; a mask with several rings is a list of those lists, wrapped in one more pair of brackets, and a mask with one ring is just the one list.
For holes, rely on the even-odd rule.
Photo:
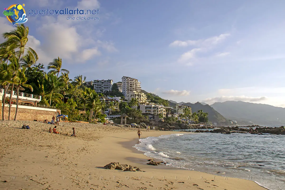
{"label": "tallest white high-rise tower with stacked balconies on the hill", "polygon": [[122,77],[122,93],[126,97],[131,91],[141,92],[141,82],[131,77]]}

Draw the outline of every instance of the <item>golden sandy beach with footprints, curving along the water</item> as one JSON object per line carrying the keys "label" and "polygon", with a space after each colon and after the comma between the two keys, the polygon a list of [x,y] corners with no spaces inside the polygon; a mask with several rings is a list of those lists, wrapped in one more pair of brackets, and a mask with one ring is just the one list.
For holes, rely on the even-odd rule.
{"label": "golden sandy beach with footprints, curving along the water", "polygon": [[[24,123],[30,129],[22,129]],[[134,128],[60,122],[61,134],[51,134],[48,129],[54,125],[42,122],[0,125],[0,189],[265,189],[245,179],[147,165],[149,158],[132,147],[139,143]],[[70,136],[72,127],[76,137]],[[141,138],[172,133],[176,132],[143,130]],[[110,162],[144,172],[104,169]]]}

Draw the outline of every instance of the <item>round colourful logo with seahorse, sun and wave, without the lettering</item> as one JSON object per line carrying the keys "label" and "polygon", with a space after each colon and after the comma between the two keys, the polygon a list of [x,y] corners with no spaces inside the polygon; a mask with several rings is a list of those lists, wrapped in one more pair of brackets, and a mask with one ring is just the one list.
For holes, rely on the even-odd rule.
{"label": "round colourful logo with seahorse, sun and wave, without the lettering", "polygon": [[7,9],[5,9],[5,11],[3,11],[3,15],[5,15],[7,20],[13,25],[25,23],[28,21],[28,18],[26,16],[24,7],[25,4],[10,5]]}

